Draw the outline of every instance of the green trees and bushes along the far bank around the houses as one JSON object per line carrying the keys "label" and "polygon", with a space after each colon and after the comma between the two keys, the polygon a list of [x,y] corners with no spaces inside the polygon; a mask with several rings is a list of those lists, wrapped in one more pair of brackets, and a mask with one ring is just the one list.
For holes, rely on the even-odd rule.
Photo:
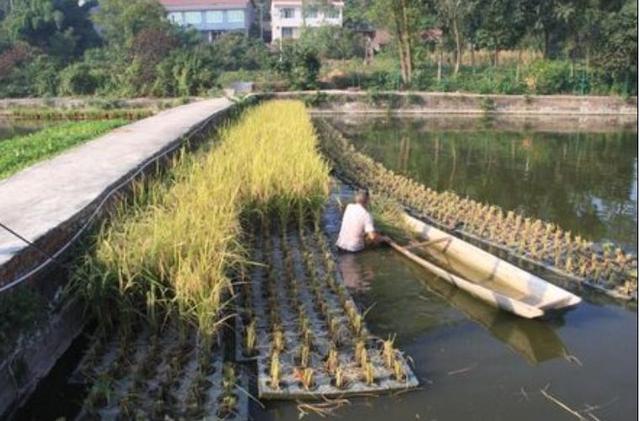
{"label": "green trees and bushes along the far bank around the houses", "polygon": [[[351,0],[344,28],[307,28],[277,51],[239,33],[203,43],[196,30],[172,25],[157,0],[101,0],[90,19],[95,4],[0,0],[0,96],[203,95],[238,80],[266,91],[316,89],[320,62],[333,60],[341,67],[323,72],[322,86],[637,94],[632,0]],[[363,66],[361,30],[371,34],[374,25],[391,41]],[[434,55],[455,52],[457,63],[469,48],[493,51],[494,66],[445,62],[438,80]],[[503,65],[500,50],[522,48],[546,58]]]}

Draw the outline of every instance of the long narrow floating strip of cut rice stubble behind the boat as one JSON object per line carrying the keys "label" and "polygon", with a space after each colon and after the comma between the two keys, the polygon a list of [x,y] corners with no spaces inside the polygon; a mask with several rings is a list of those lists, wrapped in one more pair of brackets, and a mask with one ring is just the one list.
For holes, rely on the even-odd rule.
{"label": "long narrow floating strip of cut rice stubble behind the boat", "polygon": [[392,198],[411,213],[438,228],[458,232],[485,247],[550,270],[568,279],[620,299],[636,299],[637,256],[610,244],[604,246],[574,236],[559,226],[527,218],[497,206],[461,198],[452,192],[435,192],[408,177],[395,174],[354,148],[328,122],[317,120],[321,147],[340,176],[356,185],[370,187]]}

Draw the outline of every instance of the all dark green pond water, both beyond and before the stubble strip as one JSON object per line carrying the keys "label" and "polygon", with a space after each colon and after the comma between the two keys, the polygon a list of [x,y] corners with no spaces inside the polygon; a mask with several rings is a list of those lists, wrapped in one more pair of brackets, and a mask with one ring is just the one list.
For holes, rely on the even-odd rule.
{"label": "all dark green pond water, both beyond and before the stubble strip", "polygon": [[[637,143],[628,128],[598,132],[489,130],[420,119],[331,120],[388,167],[437,189],[560,223],[636,248]],[[343,200],[349,200],[348,191]],[[337,235],[340,215],[327,217]],[[524,320],[478,302],[391,250],[342,256],[340,269],[370,330],[397,334],[422,388],[354,399],[344,420],[633,420],[638,405],[637,310],[597,294],[575,309]],[[550,281],[557,281],[549,279]],[[585,410],[597,407],[591,418]],[[295,420],[292,403],[257,419]],[[305,418],[306,419],[306,418]],[[320,419],[309,417],[309,419]]]}

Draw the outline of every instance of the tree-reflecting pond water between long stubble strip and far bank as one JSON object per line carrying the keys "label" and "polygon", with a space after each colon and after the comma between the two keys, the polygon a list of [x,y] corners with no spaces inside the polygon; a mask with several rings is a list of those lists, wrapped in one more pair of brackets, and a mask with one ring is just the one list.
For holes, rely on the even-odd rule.
{"label": "tree-reflecting pond water between long stubble strip and far bank", "polygon": [[568,118],[519,125],[460,117],[330,122],[359,150],[437,191],[518,210],[591,241],[637,247],[635,125]]}

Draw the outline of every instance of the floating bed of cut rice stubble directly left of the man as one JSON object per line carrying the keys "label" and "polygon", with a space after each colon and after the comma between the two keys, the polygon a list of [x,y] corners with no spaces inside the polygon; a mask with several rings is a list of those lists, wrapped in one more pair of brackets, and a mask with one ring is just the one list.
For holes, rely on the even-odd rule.
{"label": "floating bed of cut rice stubble directly left of the man", "polygon": [[418,386],[393,339],[368,332],[318,224],[258,226],[251,241],[258,264],[241,283],[238,358],[257,360],[259,397],[318,399]]}

